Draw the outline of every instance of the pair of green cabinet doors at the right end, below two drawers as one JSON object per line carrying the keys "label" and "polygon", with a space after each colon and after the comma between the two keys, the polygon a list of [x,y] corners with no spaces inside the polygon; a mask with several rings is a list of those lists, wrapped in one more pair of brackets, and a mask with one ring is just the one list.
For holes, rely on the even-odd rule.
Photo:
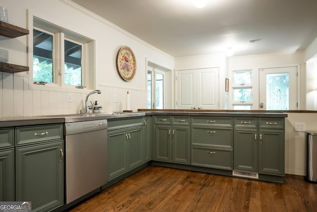
{"label": "pair of green cabinet doors at the right end, below two drawers", "polygon": [[284,176],[284,135],[284,130],[234,129],[234,169]]}

